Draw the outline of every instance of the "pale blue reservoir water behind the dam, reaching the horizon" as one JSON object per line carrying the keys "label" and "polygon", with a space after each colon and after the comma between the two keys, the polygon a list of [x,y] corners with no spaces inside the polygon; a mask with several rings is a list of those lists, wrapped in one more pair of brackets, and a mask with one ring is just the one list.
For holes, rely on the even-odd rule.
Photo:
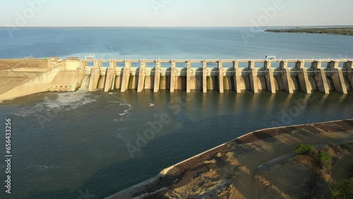
{"label": "pale blue reservoir water behind the dam, reaching the horizon", "polygon": [[[256,28],[0,29],[0,58],[102,59],[352,58],[353,37],[271,33]],[[10,33],[9,33],[10,32]]]}

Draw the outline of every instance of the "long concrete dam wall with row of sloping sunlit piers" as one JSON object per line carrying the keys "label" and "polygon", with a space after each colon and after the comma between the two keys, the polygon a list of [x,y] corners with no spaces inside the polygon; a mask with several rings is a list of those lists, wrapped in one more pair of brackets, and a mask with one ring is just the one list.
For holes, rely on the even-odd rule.
{"label": "long concrete dam wall with row of sloping sunlit piers", "polygon": [[[227,67],[226,67],[227,65]],[[275,93],[319,90],[347,94],[353,88],[352,59],[78,59],[50,58],[48,68],[56,71],[45,75],[44,81],[32,80],[39,90],[26,92],[71,92],[79,88],[88,91],[120,90],[268,90]],[[6,71],[2,71],[6,72]],[[14,73],[14,71],[7,71]],[[16,75],[15,75],[16,76]],[[18,76],[19,78],[20,76]],[[47,78],[49,77],[49,78]],[[43,77],[42,77],[43,78]],[[30,83],[29,83],[30,84]],[[21,86],[21,85],[16,85]],[[30,87],[30,85],[23,85]],[[32,87],[31,87],[32,88]],[[20,92],[0,93],[0,100],[23,96]]]}

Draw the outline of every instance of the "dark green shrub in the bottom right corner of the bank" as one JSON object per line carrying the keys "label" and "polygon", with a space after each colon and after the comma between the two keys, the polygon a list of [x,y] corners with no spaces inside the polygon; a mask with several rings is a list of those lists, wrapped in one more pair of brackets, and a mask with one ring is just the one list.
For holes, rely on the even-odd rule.
{"label": "dark green shrub in the bottom right corner of the bank", "polygon": [[333,199],[352,199],[353,178],[333,183],[330,186],[330,191]]}

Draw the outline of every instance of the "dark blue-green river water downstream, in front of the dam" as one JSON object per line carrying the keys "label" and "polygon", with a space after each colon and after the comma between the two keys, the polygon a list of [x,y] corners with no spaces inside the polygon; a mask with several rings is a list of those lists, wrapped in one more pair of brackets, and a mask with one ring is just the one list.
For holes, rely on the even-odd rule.
{"label": "dark blue-green river water downstream, in front of the dam", "polygon": [[1,118],[13,121],[13,195],[25,198],[75,198],[86,189],[102,198],[245,133],[349,119],[352,107],[352,94],[285,91],[80,90],[0,104]]}

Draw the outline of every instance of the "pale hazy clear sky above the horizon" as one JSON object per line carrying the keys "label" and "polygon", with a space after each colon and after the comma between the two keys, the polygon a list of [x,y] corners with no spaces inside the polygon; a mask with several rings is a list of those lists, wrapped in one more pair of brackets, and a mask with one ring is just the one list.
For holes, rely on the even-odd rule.
{"label": "pale hazy clear sky above the horizon", "polygon": [[[279,9],[275,1],[282,2]],[[29,2],[40,2],[30,6]],[[353,25],[351,0],[0,0],[0,26]],[[276,11],[266,14],[264,9]],[[24,20],[23,20],[24,19]]]}

